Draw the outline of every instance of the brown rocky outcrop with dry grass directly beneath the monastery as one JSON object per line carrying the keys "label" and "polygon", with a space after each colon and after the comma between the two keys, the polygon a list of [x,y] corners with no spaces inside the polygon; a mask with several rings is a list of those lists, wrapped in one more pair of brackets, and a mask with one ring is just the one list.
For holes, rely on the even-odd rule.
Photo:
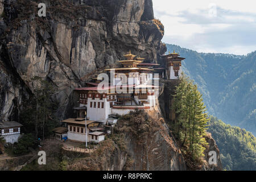
{"label": "brown rocky outcrop with dry grass directly beneath the monastery", "polygon": [[185,170],[179,148],[158,107],[118,120],[113,135],[87,158],[69,162],[69,170]]}

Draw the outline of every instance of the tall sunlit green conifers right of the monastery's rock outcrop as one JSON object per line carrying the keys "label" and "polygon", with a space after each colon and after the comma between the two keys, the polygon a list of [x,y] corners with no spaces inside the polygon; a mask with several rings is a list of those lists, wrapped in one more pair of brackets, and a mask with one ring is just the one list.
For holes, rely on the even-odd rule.
{"label": "tall sunlit green conifers right of the monastery's rock outcrop", "polygon": [[183,146],[183,153],[192,162],[200,162],[207,142],[204,138],[208,116],[197,86],[184,75],[176,87],[174,106],[177,118],[172,131]]}

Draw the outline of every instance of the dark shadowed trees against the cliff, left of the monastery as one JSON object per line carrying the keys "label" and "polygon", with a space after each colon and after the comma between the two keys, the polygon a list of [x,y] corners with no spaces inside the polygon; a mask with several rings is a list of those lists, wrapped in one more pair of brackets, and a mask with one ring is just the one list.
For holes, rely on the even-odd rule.
{"label": "dark shadowed trees against the cliff, left of the monastery", "polygon": [[34,133],[35,137],[45,138],[58,125],[55,111],[58,102],[53,99],[53,86],[40,77],[34,77],[34,96],[26,103],[26,109],[21,114],[25,133]]}

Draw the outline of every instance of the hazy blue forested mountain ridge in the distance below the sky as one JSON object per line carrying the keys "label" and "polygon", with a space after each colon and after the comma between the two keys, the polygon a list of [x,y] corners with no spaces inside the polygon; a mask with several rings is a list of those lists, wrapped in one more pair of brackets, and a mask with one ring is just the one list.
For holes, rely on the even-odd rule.
{"label": "hazy blue forested mountain ridge in the distance below the sky", "polygon": [[166,46],[186,58],[183,72],[199,86],[210,114],[256,134],[256,51],[238,56]]}

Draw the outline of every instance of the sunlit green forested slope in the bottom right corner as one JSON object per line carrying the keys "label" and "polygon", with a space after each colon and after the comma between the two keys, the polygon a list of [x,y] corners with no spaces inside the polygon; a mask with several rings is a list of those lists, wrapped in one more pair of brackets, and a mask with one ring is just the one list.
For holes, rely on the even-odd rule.
{"label": "sunlit green forested slope in the bottom right corner", "polygon": [[240,127],[226,125],[210,117],[209,129],[221,152],[226,170],[256,170],[256,138]]}

